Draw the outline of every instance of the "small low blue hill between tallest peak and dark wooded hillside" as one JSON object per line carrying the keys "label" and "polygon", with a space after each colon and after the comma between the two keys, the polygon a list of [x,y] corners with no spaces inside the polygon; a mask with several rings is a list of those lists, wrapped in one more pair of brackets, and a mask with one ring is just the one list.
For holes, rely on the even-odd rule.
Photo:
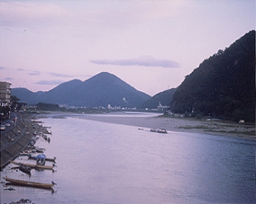
{"label": "small low blue hill between tallest peak and dark wooded hillside", "polygon": [[165,90],[163,92],[157,93],[147,101],[142,104],[142,108],[157,108],[159,102],[161,105],[170,105],[172,101],[172,96],[175,93],[176,89],[172,88],[169,90]]}

